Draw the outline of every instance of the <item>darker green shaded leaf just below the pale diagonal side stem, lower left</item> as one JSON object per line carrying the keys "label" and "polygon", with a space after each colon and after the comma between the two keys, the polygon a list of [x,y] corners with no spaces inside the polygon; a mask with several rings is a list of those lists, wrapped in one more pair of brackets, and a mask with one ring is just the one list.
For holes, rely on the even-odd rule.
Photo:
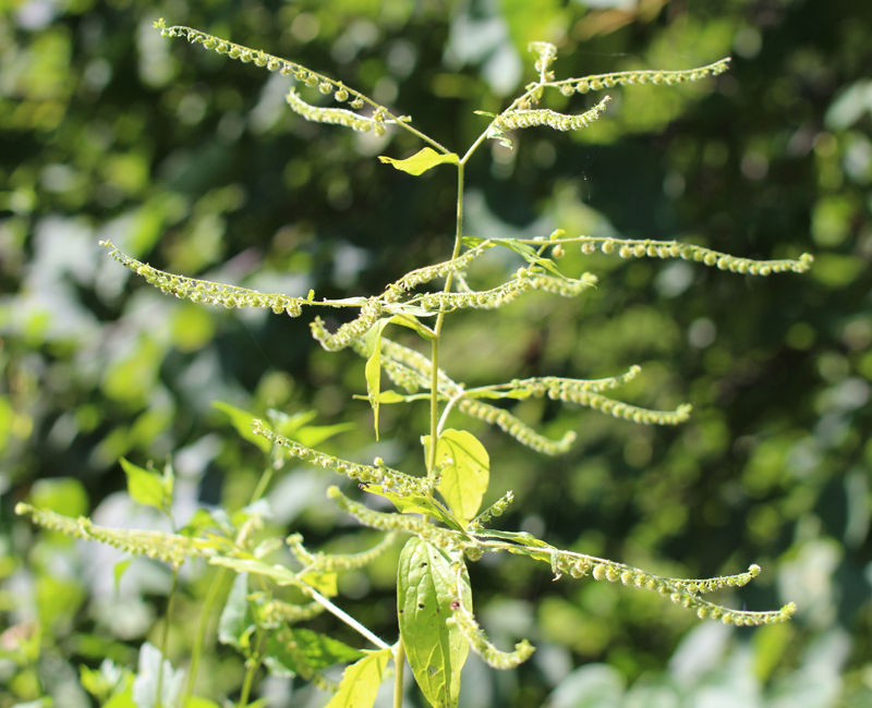
{"label": "darker green shaded leaf just below the pale diagonal side stem, lower left", "polygon": [[284,627],[274,632],[267,643],[267,666],[279,675],[300,674],[304,679],[335,663],[348,663],[363,652],[312,630]]}

